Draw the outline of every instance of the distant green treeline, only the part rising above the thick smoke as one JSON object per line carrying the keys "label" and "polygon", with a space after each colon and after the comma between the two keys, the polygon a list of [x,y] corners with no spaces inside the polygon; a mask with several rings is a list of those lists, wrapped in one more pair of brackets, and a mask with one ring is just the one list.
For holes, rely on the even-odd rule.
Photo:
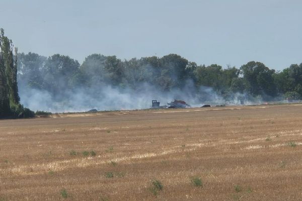
{"label": "distant green treeline, only the part rising above the thick smoke", "polygon": [[116,56],[92,54],[80,64],[69,56],[50,57],[29,52],[18,54],[18,80],[22,85],[49,91],[62,97],[66,91],[79,87],[102,85],[139,89],[147,83],[168,92],[184,89],[190,80],[194,87],[211,87],[225,99],[234,93],[261,97],[263,100],[302,98],[302,63],[282,71],[250,61],[240,68],[220,65],[197,65],[177,54],[163,57],[142,57],[121,60]]}

